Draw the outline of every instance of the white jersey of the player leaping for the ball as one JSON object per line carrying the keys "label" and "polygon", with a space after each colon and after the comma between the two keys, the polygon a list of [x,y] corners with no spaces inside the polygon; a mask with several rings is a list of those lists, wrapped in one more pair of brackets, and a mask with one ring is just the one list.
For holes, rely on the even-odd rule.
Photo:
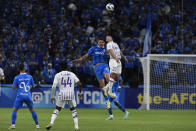
{"label": "white jersey of the player leaping for the ball", "polygon": [[[117,43],[110,41],[107,43],[107,50],[112,49],[114,51],[114,55],[116,55],[117,58],[121,59],[120,55],[120,48]],[[110,59],[113,59],[113,57],[110,55]]]}

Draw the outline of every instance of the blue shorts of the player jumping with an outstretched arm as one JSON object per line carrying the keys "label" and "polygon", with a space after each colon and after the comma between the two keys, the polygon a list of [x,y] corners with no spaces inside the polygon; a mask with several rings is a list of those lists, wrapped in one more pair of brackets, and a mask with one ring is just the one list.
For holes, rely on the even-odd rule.
{"label": "blue shorts of the player jumping with an outstretched arm", "polygon": [[104,78],[104,74],[106,73],[110,73],[110,70],[109,70],[109,67],[107,64],[100,64],[100,65],[97,65],[95,66],[95,74],[96,74],[96,77],[97,77],[97,80],[101,80]]}

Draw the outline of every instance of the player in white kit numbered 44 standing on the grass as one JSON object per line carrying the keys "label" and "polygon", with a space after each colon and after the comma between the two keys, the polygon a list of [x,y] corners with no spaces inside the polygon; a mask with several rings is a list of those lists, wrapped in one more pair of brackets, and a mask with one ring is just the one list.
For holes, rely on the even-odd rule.
{"label": "player in white kit numbered 44 standing on the grass", "polygon": [[54,94],[56,87],[59,87],[59,94],[56,100],[56,109],[52,113],[50,124],[46,126],[46,129],[49,130],[53,125],[54,121],[57,118],[59,112],[62,108],[64,108],[65,104],[68,103],[70,106],[70,111],[72,112],[72,117],[75,124],[75,131],[79,130],[78,127],[78,116],[76,112],[76,101],[75,101],[75,93],[74,86],[75,84],[79,87],[78,97],[81,99],[81,91],[82,84],[76,75],[67,70],[67,63],[61,62],[60,64],[61,72],[57,73],[54,78],[54,82],[52,85],[52,95],[51,95],[51,103],[54,103]]}

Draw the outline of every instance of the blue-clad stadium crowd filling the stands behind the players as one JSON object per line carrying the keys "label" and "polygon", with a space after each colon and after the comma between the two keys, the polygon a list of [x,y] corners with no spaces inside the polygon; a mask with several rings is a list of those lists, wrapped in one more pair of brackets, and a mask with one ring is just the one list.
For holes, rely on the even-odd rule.
{"label": "blue-clad stadium crowd filling the stands behind the players", "polygon": [[[91,59],[73,64],[112,34],[130,60],[123,63],[125,84],[142,83],[142,56],[148,5],[152,4],[152,53],[196,54],[194,0],[6,0],[0,2],[0,67],[4,83],[12,83],[24,62],[36,83],[51,84],[59,63],[66,60],[84,84],[97,86]],[[182,10],[183,8],[183,10]]]}

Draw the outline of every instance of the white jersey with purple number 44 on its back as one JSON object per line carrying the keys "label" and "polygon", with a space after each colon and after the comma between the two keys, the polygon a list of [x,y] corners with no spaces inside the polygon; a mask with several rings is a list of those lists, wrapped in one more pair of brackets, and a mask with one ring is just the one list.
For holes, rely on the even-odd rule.
{"label": "white jersey with purple number 44 on its back", "polygon": [[[62,71],[55,75],[52,88],[59,87],[59,98],[60,100],[73,100],[74,87],[75,84],[79,81],[77,76],[70,71]],[[54,94],[52,94],[53,97]]]}

